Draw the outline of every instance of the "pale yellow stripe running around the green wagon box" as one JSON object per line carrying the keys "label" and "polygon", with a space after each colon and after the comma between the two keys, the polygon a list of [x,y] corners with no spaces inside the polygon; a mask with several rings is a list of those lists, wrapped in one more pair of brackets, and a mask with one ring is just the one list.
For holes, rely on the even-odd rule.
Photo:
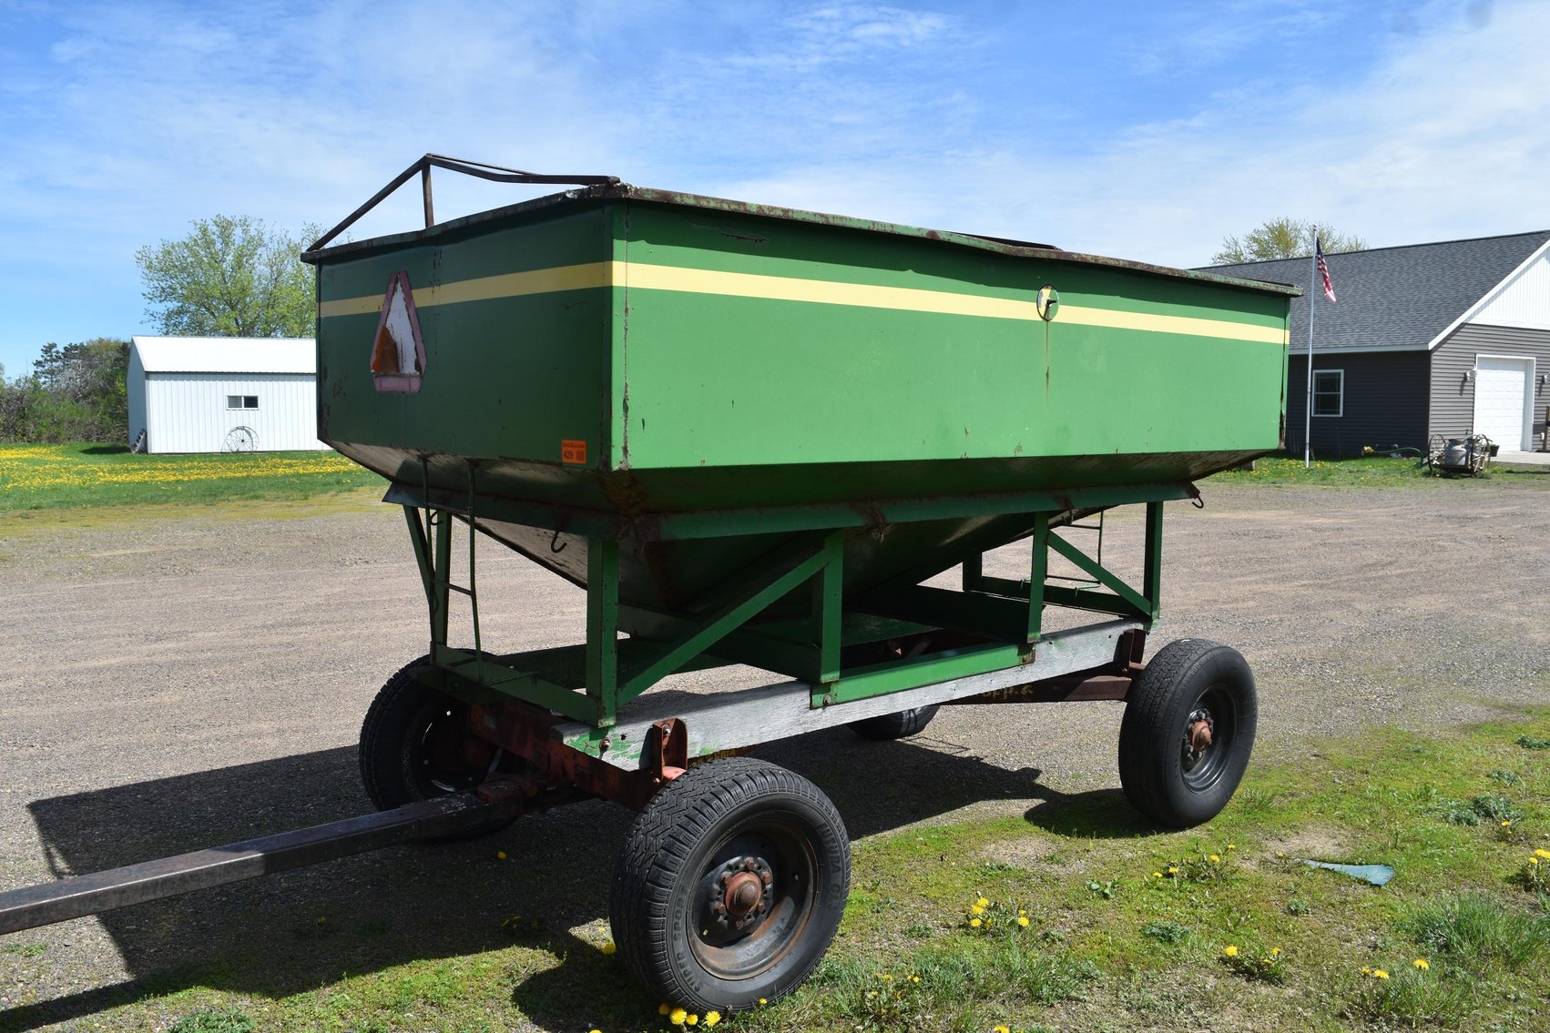
{"label": "pale yellow stripe running around the green wagon box", "polygon": [[[763,276],[756,273],[724,273],[718,269],[691,269],[676,265],[649,265],[643,262],[589,262],[564,265],[529,273],[505,273],[482,276],[473,280],[426,285],[414,288],[415,308],[429,305],[454,305],[459,302],[491,300],[498,297],[522,297],[527,294],[553,294],[598,287],[623,287],[651,291],[680,291],[685,294],[718,294],[724,297],[758,297],[764,300],[808,302],[814,305],[852,305],[860,308],[890,308],[896,311],[924,311],[947,316],[981,316],[987,319],[1038,321],[1038,311],[1031,300],[1011,297],[986,297],[983,294],[959,294],[953,291],[930,291],[916,287],[879,287],[874,283],[843,283],[835,280],[808,280],[789,276]],[[318,316],[366,316],[380,313],[381,294],[346,297],[318,305]],[[1197,338],[1224,338],[1231,341],[1256,341],[1263,344],[1286,344],[1283,327],[1259,327],[1229,319],[1201,319],[1197,316],[1164,316],[1158,313],[1116,311],[1063,304],[1056,322],[1079,327],[1108,327],[1111,330],[1145,330],[1152,333],[1180,333]]]}

